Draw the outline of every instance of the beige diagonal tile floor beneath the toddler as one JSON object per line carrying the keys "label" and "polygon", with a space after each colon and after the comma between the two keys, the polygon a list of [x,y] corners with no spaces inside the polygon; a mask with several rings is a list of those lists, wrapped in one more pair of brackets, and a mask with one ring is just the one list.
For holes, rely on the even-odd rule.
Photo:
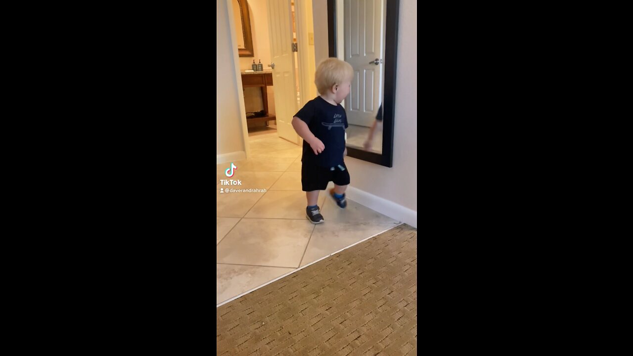
{"label": "beige diagonal tile floor beneath the toddler", "polygon": [[[216,165],[216,304],[399,224],[349,199],[341,209],[327,191],[318,199],[325,222],[311,224],[301,148],[277,132],[249,134],[249,143],[251,158],[234,162],[233,177],[224,175],[230,163]],[[220,179],[242,182],[228,188],[266,192],[220,193],[227,188]]]}

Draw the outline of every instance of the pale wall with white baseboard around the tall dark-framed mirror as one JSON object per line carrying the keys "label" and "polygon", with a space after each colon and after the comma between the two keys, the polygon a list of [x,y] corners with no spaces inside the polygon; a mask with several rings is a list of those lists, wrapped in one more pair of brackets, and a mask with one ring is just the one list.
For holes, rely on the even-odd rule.
{"label": "pale wall with white baseboard around the tall dark-framed mirror", "polygon": [[[314,1],[316,63],[327,58],[327,6]],[[396,117],[394,117],[393,167],[348,157],[351,175],[348,196],[367,207],[417,227],[418,211],[418,23],[417,1],[400,1]]]}

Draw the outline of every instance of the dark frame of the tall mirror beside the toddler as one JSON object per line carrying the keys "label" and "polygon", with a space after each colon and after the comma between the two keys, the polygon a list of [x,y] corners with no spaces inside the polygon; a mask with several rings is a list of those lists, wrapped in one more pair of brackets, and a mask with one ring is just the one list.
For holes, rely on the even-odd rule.
{"label": "dark frame of the tall mirror beside the toddler", "polygon": [[[387,18],[385,22],[385,82],[382,101],[382,154],[368,152],[348,146],[348,156],[359,160],[393,167],[394,113],[396,107],[396,60],[398,54],[399,0],[385,0]],[[336,0],[327,0],[327,33],[330,42],[330,57],[336,57]]]}

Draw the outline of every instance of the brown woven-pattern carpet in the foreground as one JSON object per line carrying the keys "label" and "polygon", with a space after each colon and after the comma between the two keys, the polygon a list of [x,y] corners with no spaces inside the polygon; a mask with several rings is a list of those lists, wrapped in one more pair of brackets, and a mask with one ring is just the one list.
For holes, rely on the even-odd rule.
{"label": "brown woven-pattern carpet in the foreground", "polygon": [[417,237],[394,227],[216,308],[216,355],[415,355]]}

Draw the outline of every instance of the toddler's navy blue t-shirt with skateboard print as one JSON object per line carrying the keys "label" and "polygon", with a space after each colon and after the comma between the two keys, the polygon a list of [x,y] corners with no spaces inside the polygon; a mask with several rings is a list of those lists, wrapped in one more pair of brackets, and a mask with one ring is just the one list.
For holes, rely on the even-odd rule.
{"label": "toddler's navy blue t-shirt with skateboard print", "polygon": [[301,162],[310,162],[319,167],[335,167],[343,163],[348,116],[340,104],[332,105],[317,96],[308,101],[294,116],[303,120],[312,134],[325,146],[322,153],[315,155],[310,144],[304,140]]}

